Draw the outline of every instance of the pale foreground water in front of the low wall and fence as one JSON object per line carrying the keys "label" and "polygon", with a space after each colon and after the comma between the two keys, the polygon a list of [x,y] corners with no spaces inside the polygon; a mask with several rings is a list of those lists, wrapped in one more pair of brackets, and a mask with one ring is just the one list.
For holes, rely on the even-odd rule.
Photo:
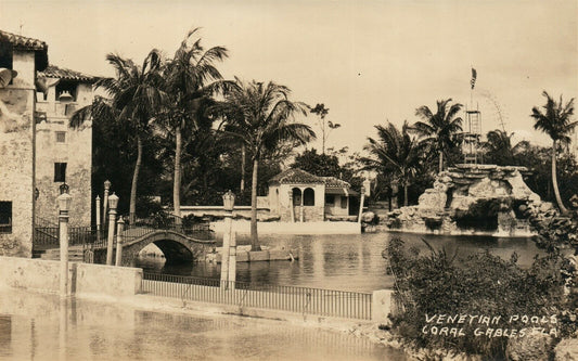
{"label": "pale foreground water in front of the low wall and fence", "polygon": [[0,359],[403,360],[400,351],[364,338],[277,321],[61,302],[21,292],[3,292],[0,299]]}

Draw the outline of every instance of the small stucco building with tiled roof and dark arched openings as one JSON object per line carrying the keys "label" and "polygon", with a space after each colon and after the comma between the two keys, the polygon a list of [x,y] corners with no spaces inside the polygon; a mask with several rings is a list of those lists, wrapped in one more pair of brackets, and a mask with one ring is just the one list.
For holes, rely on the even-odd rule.
{"label": "small stucco building with tiled roof and dark arched openings", "polygon": [[271,178],[267,198],[270,212],[282,222],[319,222],[347,218],[357,196],[343,180],[290,168]]}

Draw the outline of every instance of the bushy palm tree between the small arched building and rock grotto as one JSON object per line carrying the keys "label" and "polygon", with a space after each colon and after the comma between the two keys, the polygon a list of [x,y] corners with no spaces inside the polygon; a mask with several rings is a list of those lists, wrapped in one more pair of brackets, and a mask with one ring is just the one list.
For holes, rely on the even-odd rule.
{"label": "bushy palm tree between the small arched building and rock grotto", "polygon": [[404,121],[399,131],[388,123],[385,127],[375,126],[377,140],[368,138],[369,144],[364,150],[373,158],[362,158],[365,169],[377,170],[383,175],[390,175],[395,183],[403,186],[403,205],[408,205],[408,188],[418,173],[424,158],[424,142],[419,142],[409,131],[410,126]]}

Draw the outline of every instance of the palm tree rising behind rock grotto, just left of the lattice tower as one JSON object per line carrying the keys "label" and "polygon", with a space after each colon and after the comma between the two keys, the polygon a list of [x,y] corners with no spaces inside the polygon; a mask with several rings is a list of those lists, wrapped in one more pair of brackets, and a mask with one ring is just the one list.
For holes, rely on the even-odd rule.
{"label": "palm tree rising behind rock grotto, just left of the lattice tower", "polygon": [[415,109],[415,115],[423,119],[416,121],[411,129],[425,137],[424,142],[439,154],[438,170],[444,170],[444,153],[455,146],[454,136],[462,131],[462,118],[457,117],[462,104],[448,105],[451,99],[437,101],[437,112],[434,114],[429,107],[423,105]]}

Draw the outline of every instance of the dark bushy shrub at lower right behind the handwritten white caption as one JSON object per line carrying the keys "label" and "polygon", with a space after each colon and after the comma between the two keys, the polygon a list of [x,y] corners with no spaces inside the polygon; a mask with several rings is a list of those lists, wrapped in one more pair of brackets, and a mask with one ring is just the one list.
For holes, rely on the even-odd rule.
{"label": "dark bushy shrub at lower right behind the handwritten white caption", "polygon": [[[556,315],[565,320],[563,312],[568,305],[563,295],[565,280],[560,271],[564,259],[560,254],[536,257],[529,269],[522,269],[516,265],[515,254],[510,260],[489,252],[458,259],[445,249],[426,245],[428,255],[420,255],[415,248],[406,250],[403,241],[395,237],[384,252],[389,271],[395,275],[396,297],[404,306],[403,311],[391,315],[393,328],[414,340],[416,346],[478,353],[491,359],[505,357],[508,337],[475,336],[476,327],[487,328],[478,322],[447,324],[463,328],[464,336],[460,337],[425,334],[424,326],[426,330],[433,325],[441,327],[427,323],[426,314],[429,318],[435,314],[501,317],[503,328],[516,330],[528,324],[522,320],[508,323],[511,315]],[[576,324],[565,323],[557,331],[558,336],[567,336],[576,331]]]}

